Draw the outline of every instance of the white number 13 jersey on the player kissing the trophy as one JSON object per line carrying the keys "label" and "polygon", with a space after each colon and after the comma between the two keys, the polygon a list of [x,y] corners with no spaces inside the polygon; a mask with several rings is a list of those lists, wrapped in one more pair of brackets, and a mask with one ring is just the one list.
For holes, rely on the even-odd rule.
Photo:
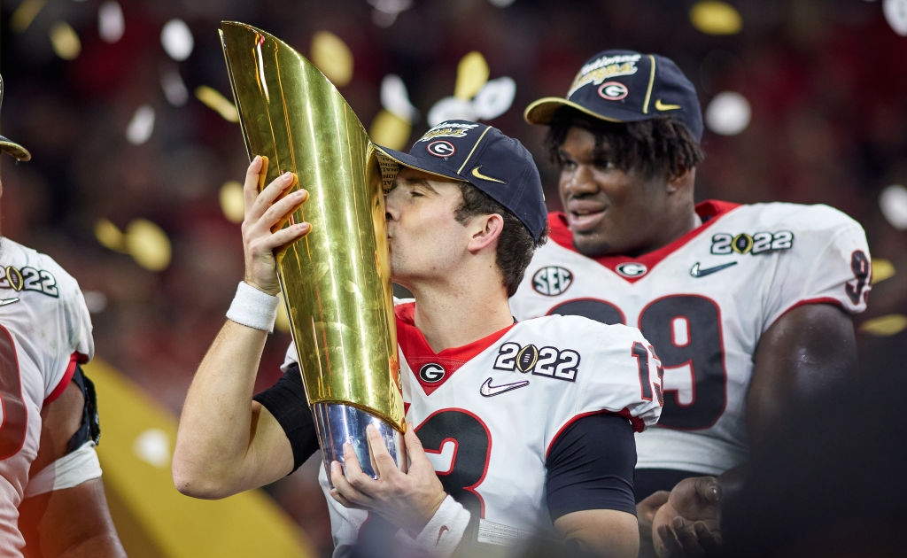
{"label": "white number 13 jersey on the player kissing the trophy", "polygon": [[[448,494],[480,514],[480,543],[551,532],[545,459],[573,421],[605,411],[639,432],[658,420],[659,364],[637,328],[546,317],[435,353],[412,304],[396,309],[406,421]],[[327,503],[344,555],[368,514]]]}

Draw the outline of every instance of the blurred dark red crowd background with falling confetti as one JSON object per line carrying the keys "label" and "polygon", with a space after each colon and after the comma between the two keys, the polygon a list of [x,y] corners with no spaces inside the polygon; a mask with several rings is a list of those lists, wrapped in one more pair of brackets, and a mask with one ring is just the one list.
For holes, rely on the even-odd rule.
{"label": "blurred dark red crowd background with falling confetti", "polygon": [[[863,370],[901,367],[907,357],[905,1],[2,6],[0,132],[33,154],[18,165],[5,158],[3,233],[51,254],[79,279],[93,308],[98,357],[174,416],[242,278],[239,225],[223,200],[248,158],[239,124],[210,101],[211,92],[232,100],[222,20],[260,27],[301,54],[321,32],[339,39],[352,73],[338,89],[366,127],[388,109],[382,83],[397,76],[413,109],[398,147],[417,138],[430,110],[454,94],[463,57],[481,54],[491,79],[515,84],[512,103],[487,122],[537,156],[551,209],[559,201],[544,130],[523,122],[522,109],[566,93],[580,64],[600,50],[665,54],[696,84],[704,110],[736,93],[727,106],[739,125],[704,135],[697,199],[821,202],[859,220],[876,264],[869,309],[856,318]],[[105,16],[113,17],[106,24],[113,21],[113,31]],[[174,22],[191,38],[189,52],[178,56],[161,40]],[[159,247],[151,263],[137,255],[135,245],[145,242]],[[273,337],[259,387],[278,377],[290,340],[286,329]],[[327,514],[312,480],[317,465],[310,460],[267,490],[327,549]]]}

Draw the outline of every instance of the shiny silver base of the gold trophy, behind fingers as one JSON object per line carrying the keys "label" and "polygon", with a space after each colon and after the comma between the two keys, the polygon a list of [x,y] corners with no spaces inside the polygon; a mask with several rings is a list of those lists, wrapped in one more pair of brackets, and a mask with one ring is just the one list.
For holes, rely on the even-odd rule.
{"label": "shiny silver base of the gold trophy, behind fingers", "polygon": [[343,445],[346,442],[353,445],[362,471],[372,478],[378,478],[372,467],[371,455],[368,451],[368,439],[366,438],[366,426],[368,425],[377,427],[388,453],[394,458],[394,463],[402,471],[406,470],[403,435],[384,419],[358,407],[342,403],[316,403],[312,405],[312,416],[315,418],[318,444],[321,445],[327,484],[331,488],[334,488],[334,484],[331,483],[331,462],[339,461],[346,470],[346,460],[343,455]]}

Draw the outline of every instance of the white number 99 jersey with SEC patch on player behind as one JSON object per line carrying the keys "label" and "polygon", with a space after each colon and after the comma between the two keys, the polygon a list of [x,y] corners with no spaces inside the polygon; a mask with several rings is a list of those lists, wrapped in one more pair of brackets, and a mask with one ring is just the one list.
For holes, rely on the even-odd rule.
{"label": "white number 99 jersey with SEC patch on player behind", "polygon": [[763,332],[798,305],[866,308],[863,228],[824,205],[707,201],[705,221],[639,258],[590,259],[564,216],[511,299],[519,319],[576,314],[642,330],[664,367],[658,425],[637,436],[638,468],[718,475],[746,461],[746,391]]}

